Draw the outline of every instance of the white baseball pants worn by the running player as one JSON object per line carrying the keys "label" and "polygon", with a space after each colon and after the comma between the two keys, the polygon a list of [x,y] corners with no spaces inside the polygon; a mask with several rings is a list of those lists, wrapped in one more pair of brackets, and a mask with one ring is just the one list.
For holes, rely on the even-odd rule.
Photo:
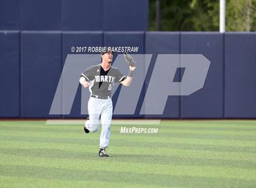
{"label": "white baseball pants worn by the running player", "polygon": [[89,120],[85,121],[85,127],[90,132],[96,132],[99,129],[99,118],[101,117],[101,137],[99,147],[105,149],[110,139],[110,125],[112,121],[113,105],[112,99],[98,99],[90,97],[88,101]]}

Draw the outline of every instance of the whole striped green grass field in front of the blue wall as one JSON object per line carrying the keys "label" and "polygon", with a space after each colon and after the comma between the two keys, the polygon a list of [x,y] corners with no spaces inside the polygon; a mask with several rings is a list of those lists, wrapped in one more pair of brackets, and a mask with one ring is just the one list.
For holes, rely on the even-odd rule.
{"label": "whole striped green grass field in front of the blue wall", "polygon": [[[156,134],[0,121],[0,187],[255,187],[256,121],[162,121]],[[124,126],[124,125],[122,125]],[[127,126],[126,127],[131,127]]]}

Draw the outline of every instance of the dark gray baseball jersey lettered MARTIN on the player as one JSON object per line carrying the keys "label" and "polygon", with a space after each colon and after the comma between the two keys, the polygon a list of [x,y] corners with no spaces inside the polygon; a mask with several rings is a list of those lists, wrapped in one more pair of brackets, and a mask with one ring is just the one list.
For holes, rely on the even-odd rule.
{"label": "dark gray baseball jersey lettered MARTIN on the player", "polygon": [[111,66],[110,69],[105,71],[101,64],[89,67],[81,76],[90,82],[90,93],[99,96],[111,96],[113,84],[126,79],[126,76],[117,68]]}

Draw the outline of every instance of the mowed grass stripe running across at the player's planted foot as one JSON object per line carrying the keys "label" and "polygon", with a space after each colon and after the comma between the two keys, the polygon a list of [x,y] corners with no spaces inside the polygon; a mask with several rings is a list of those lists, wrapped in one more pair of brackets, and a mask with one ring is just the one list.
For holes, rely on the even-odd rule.
{"label": "mowed grass stripe running across at the player's planted foot", "polygon": [[[97,160],[98,156],[96,151],[91,152],[74,152],[69,150],[60,149],[9,149],[2,148],[0,150],[2,155],[12,156],[33,156],[43,158],[56,158],[56,159],[77,159],[83,161]],[[238,167],[246,169],[255,169],[256,161],[233,161],[232,159],[204,159],[192,158],[181,156],[159,156],[159,155],[137,155],[137,154],[116,154],[111,153],[109,160],[111,161],[128,161],[129,163],[146,163],[146,164],[174,164],[174,165],[188,165],[188,166],[227,166]]]}

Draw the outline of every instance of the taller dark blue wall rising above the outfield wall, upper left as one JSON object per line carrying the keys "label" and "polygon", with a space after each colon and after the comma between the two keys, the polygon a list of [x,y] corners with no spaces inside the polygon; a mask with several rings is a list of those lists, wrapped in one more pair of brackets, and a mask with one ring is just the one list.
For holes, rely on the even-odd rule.
{"label": "taller dark blue wall rising above the outfield wall, upper left", "polygon": [[147,29],[148,0],[0,0],[0,30]]}

